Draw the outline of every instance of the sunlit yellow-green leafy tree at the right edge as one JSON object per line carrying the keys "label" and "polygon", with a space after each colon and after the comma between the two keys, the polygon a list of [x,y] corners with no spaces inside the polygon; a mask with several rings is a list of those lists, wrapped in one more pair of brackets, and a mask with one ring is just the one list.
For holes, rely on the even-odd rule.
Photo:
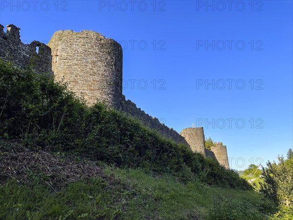
{"label": "sunlit yellow-green leafy tree at the right edge", "polygon": [[263,182],[260,182],[260,192],[280,206],[293,208],[293,169],[292,151],[288,151],[288,159],[278,156],[278,163],[270,161],[268,168],[263,168]]}

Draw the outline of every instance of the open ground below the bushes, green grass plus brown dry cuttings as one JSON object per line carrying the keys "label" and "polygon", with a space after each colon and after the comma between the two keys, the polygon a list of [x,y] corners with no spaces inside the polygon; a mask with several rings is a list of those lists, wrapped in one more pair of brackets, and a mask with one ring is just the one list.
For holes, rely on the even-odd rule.
{"label": "open ground below the bushes, green grass plus brown dry cuttings", "polygon": [[261,220],[271,209],[251,190],[184,184],[15,142],[1,141],[0,152],[14,177],[0,184],[0,219]]}

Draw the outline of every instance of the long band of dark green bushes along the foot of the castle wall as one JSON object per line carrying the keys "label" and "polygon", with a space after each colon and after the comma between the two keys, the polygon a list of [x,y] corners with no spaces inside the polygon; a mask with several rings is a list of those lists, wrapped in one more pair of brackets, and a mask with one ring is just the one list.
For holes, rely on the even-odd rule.
{"label": "long band of dark green bushes along the foot of the castle wall", "polygon": [[63,82],[0,60],[0,138],[31,148],[70,151],[118,167],[169,173],[182,182],[222,187],[250,185],[216,160],[193,153],[125,113],[96,103],[87,107]]}

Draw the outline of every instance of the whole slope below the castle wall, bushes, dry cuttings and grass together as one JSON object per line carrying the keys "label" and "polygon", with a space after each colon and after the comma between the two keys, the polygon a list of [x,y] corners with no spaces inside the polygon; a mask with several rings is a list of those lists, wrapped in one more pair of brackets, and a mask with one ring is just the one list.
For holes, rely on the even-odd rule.
{"label": "whole slope below the castle wall, bushes, dry cuttings and grass together", "polygon": [[0,60],[0,219],[264,219],[237,172]]}

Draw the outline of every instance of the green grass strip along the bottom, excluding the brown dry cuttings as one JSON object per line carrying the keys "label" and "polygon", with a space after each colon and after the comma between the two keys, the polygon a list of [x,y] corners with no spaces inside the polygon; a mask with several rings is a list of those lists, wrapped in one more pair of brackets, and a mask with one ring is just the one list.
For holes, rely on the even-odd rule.
{"label": "green grass strip along the bottom, excluding the brown dry cuttings", "polygon": [[261,220],[266,209],[253,191],[182,184],[170,176],[107,167],[101,177],[70,183],[59,192],[8,181],[0,186],[0,219]]}

